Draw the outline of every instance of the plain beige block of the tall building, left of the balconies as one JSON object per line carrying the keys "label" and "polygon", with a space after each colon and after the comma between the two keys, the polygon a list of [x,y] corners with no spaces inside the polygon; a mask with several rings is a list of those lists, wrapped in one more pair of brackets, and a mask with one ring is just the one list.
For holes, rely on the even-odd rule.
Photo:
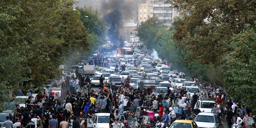
{"label": "plain beige block of the tall building, left of the balconies", "polygon": [[146,3],[138,5],[138,22],[145,22],[149,17],[153,17],[153,1],[148,0]]}

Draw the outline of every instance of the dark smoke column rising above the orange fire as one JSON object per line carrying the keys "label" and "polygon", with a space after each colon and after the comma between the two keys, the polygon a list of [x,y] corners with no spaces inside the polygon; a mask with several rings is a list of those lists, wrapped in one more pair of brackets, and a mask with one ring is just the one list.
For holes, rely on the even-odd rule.
{"label": "dark smoke column rising above the orange fire", "polygon": [[102,2],[101,12],[103,18],[108,22],[108,38],[114,44],[112,50],[121,48],[124,45],[124,40],[120,35],[120,27],[124,23],[124,16],[128,17],[130,8],[124,0],[106,0]]}

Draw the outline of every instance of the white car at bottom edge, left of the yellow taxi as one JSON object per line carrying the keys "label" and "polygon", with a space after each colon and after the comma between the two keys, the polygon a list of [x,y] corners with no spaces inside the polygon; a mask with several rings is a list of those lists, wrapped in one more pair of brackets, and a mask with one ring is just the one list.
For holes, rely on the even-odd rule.
{"label": "white car at bottom edge, left of the yellow taxi", "polygon": [[87,122],[87,128],[109,128],[109,118],[110,113],[96,113],[92,116],[92,119],[88,120],[88,122],[91,120],[93,125],[90,126],[91,123]]}

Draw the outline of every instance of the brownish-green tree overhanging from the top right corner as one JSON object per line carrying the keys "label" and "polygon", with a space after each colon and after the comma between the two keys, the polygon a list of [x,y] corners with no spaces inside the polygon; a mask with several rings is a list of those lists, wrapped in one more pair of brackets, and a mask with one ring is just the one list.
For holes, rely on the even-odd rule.
{"label": "brownish-green tree overhanging from the top right corner", "polygon": [[251,0],[174,0],[173,4],[184,12],[184,19],[174,20],[173,38],[190,53],[190,62],[221,64],[222,56],[231,50],[231,36],[256,20],[256,7],[251,6],[256,2]]}

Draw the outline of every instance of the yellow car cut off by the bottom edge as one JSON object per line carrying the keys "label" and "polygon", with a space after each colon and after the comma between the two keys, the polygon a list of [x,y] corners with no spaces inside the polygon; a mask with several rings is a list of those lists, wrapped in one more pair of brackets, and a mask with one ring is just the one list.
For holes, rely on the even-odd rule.
{"label": "yellow car cut off by the bottom edge", "polygon": [[170,128],[199,128],[194,120],[175,120]]}

